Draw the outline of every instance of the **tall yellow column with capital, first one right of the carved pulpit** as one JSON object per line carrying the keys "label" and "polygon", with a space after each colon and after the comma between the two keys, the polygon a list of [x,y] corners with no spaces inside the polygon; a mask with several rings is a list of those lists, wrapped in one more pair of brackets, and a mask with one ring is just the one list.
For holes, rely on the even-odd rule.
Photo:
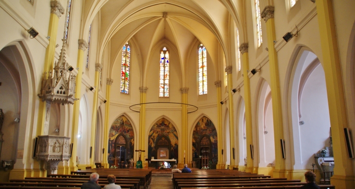
{"label": "tall yellow column with capital, first one right of the carved pulpit", "polygon": [[76,167],[76,155],[77,155],[77,144],[78,144],[78,124],[79,124],[79,114],[80,114],[80,98],[81,98],[81,81],[83,78],[83,62],[84,57],[86,55],[85,51],[88,48],[88,43],[83,40],[79,39],[79,49],[78,49],[78,58],[76,61],[76,66],[78,69],[78,75],[76,76],[76,86],[75,86],[75,98],[79,99],[74,102],[73,106],[73,118],[72,118],[72,126],[71,126],[71,143],[72,153],[71,159],[69,162],[69,170],[67,174],[70,174],[71,171],[77,171],[78,167]]}

